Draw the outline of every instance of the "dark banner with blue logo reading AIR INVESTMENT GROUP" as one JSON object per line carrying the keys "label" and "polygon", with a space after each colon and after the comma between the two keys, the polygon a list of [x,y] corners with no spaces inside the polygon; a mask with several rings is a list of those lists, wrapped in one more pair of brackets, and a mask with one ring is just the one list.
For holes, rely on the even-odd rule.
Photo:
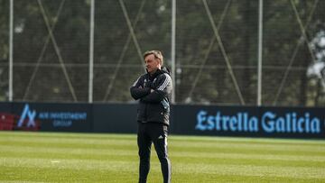
{"label": "dark banner with blue logo reading AIR INVESTMENT GROUP", "polygon": [[15,130],[92,132],[88,104],[14,103]]}

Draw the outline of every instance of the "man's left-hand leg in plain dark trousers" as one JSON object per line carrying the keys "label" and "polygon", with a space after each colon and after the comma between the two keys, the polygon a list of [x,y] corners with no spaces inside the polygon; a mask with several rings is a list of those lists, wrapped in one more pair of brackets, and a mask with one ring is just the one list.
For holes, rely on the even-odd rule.
{"label": "man's left-hand leg in plain dark trousers", "polygon": [[138,134],[137,134],[137,144],[139,148],[139,183],[145,183],[148,177],[150,169],[150,151],[152,141],[150,137],[145,133],[145,125],[139,123]]}

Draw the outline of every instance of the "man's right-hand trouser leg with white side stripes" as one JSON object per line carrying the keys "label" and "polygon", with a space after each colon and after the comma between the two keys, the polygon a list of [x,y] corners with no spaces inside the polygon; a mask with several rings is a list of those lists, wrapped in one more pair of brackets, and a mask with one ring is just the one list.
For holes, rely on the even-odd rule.
{"label": "man's right-hand trouser leg with white side stripes", "polygon": [[[158,124],[155,138],[153,139],[154,149],[157,151],[163,172],[163,182],[170,183],[172,177],[171,160],[168,158],[167,133],[168,127]],[[157,136],[158,134],[158,136]]]}

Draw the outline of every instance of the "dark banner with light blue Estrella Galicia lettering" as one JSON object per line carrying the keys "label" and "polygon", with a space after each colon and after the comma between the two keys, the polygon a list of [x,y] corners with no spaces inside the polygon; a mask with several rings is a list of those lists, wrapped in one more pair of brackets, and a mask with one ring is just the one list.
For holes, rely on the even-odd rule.
{"label": "dark banner with light blue Estrella Galicia lettering", "polygon": [[322,108],[174,106],[174,133],[250,137],[324,138]]}

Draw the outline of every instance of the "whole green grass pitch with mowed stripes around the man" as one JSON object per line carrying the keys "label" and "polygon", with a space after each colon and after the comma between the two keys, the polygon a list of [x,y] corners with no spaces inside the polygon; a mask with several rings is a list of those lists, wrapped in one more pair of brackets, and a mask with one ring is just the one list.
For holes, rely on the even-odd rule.
{"label": "whole green grass pitch with mowed stripes around the man", "polygon": [[[154,149],[154,148],[153,148]],[[169,137],[172,182],[325,182],[325,141]],[[149,183],[163,182],[152,151]],[[135,134],[0,132],[0,182],[137,182]]]}

